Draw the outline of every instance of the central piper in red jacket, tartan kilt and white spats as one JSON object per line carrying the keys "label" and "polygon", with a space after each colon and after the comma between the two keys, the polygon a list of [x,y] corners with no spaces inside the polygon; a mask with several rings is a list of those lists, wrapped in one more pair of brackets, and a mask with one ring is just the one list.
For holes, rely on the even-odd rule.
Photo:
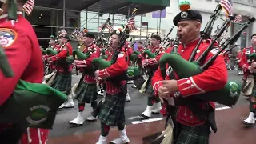
{"label": "central piper in red jacket, tartan kilt and white spats", "polygon": [[[118,49],[121,30],[114,30],[111,34],[110,40],[110,56],[106,58],[111,61],[114,52]],[[128,62],[125,47],[120,50],[117,61],[110,67],[103,70],[95,71],[96,79],[101,81],[104,78],[116,78],[123,74],[128,69]],[[127,83],[126,80],[107,81],[106,82],[106,97],[102,102],[102,108],[98,114],[98,119],[101,121],[101,135],[98,138],[97,144],[106,144],[107,135],[110,132],[110,126],[118,126],[119,138],[112,141],[112,143],[127,143],[130,142],[126,134],[125,126],[125,103],[126,103]]]}

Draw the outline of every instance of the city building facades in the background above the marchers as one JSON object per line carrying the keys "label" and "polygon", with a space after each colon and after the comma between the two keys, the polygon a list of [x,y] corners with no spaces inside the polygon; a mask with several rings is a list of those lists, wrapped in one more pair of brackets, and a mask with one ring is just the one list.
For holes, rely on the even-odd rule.
{"label": "city building facades in the background above the marchers", "polygon": [[[118,26],[126,24],[134,6],[138,5],[140,14],[135,17],[138,30],[130,35],[136,40],[145,40],[152,33],[160,34],[164,38],[171,27],[174,26],[173,18],[180,10],[178,8],[178,0],[160,1],[158,2],[159,4],[154,0],[149,0],[147,4],[142,4],[134,0],[37,0],[35,1],[33,13],[30,16],[26,16],[26,18],[34,26],[40,44],[47,46],[50,35],[57,34],[62,26],[65,27],[69,34],[74,31],[75,27],[80,28],[80,30],[85,28],[91,32],[98,33],[102,24],[106,22],[107,18],[110,18],[114,29],[118,29]],[[168,2],[168,4],[165,2]],[[214,9],[220,0],[190,0],[190,2],[191,9],[198,10],[202,14],[203,30],[210,20],[210,15],[214,14]],[[256,0],[233,0],[232,2],[234,15],[241,14],[242,22],[246,22],[250,16],[255,16],[253,12],[256,10]],[[146,12],[146,14],[142,12]],[[223,20],[226,20],[224,10],[222,10],[219,18],[214,23],[212,35],[214,35],[218,25],[222,26]],[[225,37],[227,38],[234,34],[240,26],[239,24],[229,26]],[[250,35],[254,30],[256,31],[256,23],[249,26],[242,33],[241,38],[238,39],[238,45],[242,47],[250,46]],[[170,38],[175,38],[176,31],[177,28],[174,26]],[[104,31],[106,37],[108,32],[108,30]]]}

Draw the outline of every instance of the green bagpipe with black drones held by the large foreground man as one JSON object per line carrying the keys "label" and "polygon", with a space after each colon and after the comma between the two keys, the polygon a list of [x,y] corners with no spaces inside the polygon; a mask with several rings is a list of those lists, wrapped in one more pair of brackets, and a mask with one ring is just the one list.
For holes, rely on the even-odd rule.
{"label": "green bagpipe with black drones held by the large foreground man", "polygon": [[[214,48],[214,42],[218,37],[222,35],[224,30],[226,30],[226,26],[228,26],[232,19],[234,18],[230,18],[223,24],[222,29],[219,31],[214,40],[210,42],[210,46],[207,47],[207,49],[202,53],[197,61],[186,61],[177,53],[164,54],[159,62],[162,76],[166,76],[167,63],[172,68],[174,73],[178,75],[178,78],[188,78],[190,76],[201,74],[204,70],[207,70],[212,65],[214,60],[218,57],[218,55],[221,54],[228,45],[232,45],[234,42],[237,41],[240,34],[242,33],[242,30],[245,30],[246,27],[250,25],[250,23],[255,21],[255,18],[249,18],[249,21],[243,24],[242,28],[238,30],[237,33],[234,34],[232,38],[230,38],[230,40],[224,42],[225,44],[221,46],[221,50],[214,54],[214,56],[210,58],[208,62],[205,62],[202,66],[199,66],[200,63],[206,60],[206,56],[209,54],[210,50],[213,50]],[[194,55],[191,55],[191,57],[194,57]],[[200,102],[218,102],[226,106],[234,106],[240,96],[240,89],[240,84],[238,82],[227,82],[226,86],[224,86],[221,90],[210,91],[204,94],[197,94],[194,95],[194,98],[198,99]],[[188,100],[188,102],[189,101],[190,100]]]}

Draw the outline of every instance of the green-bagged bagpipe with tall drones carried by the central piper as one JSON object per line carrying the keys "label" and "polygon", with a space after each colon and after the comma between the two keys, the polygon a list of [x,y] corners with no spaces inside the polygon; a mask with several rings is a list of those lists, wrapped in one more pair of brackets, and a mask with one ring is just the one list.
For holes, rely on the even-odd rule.
{"label": "green-bagged bagpipe with tall drones carried by the central piper", "polygon": [[[134,8],[133,13],[131,14],[131,17],[134,17],[136,14],[137,8]],[[92,61],[92,65],[94,67],[94,70],[102,70],[106,67],[111,66],[117,61],[118,54],[120,53],[120,50],[122,50],[122,47],[125,45],[126,39],[129,38],[130,30],[128,29],[128,25],[126,25],[125,30],[122,32],[122,35],[120,37],[120,42],[118,43],[118,49],[114,51],[114,54],[110,60],[110,62],[104,60],[103,58],[94,58]],[[122,80],[133,80],[138,76],[138,67],[128,67],[126,70],[126,73],[120,74],[117,78],[114,78],[115,81],[122,81]],[[110,80],[112,78],[109,78]]]}

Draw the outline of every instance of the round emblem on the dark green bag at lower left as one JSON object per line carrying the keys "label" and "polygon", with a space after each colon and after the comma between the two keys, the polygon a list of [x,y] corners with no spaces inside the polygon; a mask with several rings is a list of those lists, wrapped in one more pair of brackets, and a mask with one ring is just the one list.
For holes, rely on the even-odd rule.
{"label": "round emblem on the dark green bag at lower left", "polygon": [[50,108],[48,106],[39,105],[30,108],[31,115],[26,118],[26,121],[30,123],[30,125],[38,125],[47,120],[48,112]]}

